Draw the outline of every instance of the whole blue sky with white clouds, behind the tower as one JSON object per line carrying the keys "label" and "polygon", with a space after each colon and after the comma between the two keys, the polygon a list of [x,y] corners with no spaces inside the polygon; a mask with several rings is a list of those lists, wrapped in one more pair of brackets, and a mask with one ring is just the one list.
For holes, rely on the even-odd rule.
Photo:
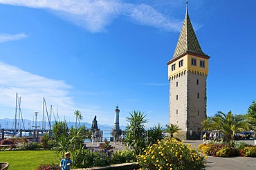
{"label": "whole blue sky with white clouds, behind the tower", "polygon": [[[209,55],[207,114],[244,114],[255,100],[256,1],[189,1]],[[61,120],[120,124],[142,111],[147,126],[168,123],[167,62],[185,17],[185,1],[0,0],[0,118],[33,120],[45,97]]]}

